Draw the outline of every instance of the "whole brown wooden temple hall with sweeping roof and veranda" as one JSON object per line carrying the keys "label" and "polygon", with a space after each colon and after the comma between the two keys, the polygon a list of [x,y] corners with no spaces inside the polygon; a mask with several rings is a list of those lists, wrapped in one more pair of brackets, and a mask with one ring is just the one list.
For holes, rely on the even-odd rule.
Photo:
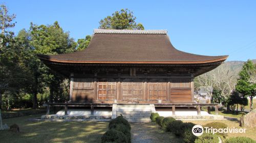
{"label": "whole brown wooden temple hall with sweeping roof and veranda", "polygon": [[215,106],[195,102],[193,81],[228,56],[179,51],[166,30],[95,29],[89,46],[82,51],[38,57],[52,70],[70,78],[70,101],[48,106],[68,109],[79,105],[93,110],[93,106],[127,104]]}

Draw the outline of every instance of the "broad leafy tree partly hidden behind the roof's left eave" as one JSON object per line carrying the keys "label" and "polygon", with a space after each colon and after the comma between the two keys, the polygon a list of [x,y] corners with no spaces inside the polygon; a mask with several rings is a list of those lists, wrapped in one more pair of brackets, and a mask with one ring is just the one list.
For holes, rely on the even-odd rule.
{"label": "broad leafy tree partly hidden behind the roof's left eave", "polygon": [[[77,43],[73,38],[69,37],[68,32],[64,32],[60,28],[57,21],[53,25],[33,25],[30,27],[31,40],[30,45],[34,49],[35,54],[64,54],[74,52]],[[37,59],[39,61],[39,59]],[[64,78],[47,66],[40,62],[38,66],[39,76],[35,79],[40,79],[41,84],[49,87],[50,95],[49,102],[56,101],[54,94],[59,94],[60,83],[63,82]],[[36,74],[35,74],[36,76]],[[36,96],[36,94],[34,94]],[[36,97],[34,97],[36,100]]]}

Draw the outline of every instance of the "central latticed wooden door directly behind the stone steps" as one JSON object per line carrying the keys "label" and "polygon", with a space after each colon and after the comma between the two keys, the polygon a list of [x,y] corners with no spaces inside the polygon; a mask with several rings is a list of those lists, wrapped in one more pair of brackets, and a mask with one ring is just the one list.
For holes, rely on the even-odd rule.
{"label": "central latticed wooden door directly behind the stone steps", "polygon": [[143,83],[142,82],[123,82],[122,83],[122,100],[143,100]]}

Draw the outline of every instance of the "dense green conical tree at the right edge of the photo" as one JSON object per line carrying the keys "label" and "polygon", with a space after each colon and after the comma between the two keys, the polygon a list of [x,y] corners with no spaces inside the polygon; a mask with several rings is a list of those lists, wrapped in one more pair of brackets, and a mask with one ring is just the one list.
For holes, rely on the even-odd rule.
{"label": "dense green conical tree at the right edge of the photo", "polygon": [[245,98],[250,98],[250,110],[252,110],[253,97],[256,96],[256,83],[251,81],[251,79],[255,79],[255,77],[250,73],[255,73],[255,70],[256,64],[253,64],[251,60],[245,62],[239,73],[239,79],[236,85],[236,90],[239,93],[241,93]]}

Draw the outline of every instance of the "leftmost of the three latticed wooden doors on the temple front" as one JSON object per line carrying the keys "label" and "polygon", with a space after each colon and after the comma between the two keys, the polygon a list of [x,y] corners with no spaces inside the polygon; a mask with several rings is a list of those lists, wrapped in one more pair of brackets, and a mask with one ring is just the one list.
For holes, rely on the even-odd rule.
{"label": "leftmost of the three latticed wooden doors on the temple front", "polygon": [[116,82],[98,82],[98,100],[115,100],[116,90]]}

